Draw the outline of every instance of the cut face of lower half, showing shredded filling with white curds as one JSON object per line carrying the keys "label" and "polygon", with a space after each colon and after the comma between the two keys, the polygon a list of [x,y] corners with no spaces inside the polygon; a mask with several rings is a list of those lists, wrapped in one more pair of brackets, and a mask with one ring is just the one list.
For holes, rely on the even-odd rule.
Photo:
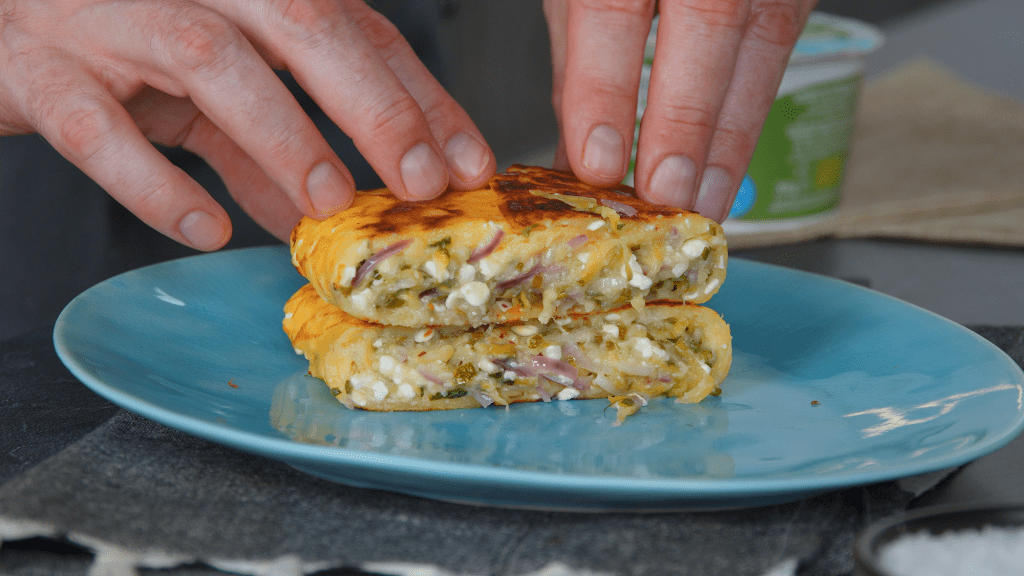
{"label": "cut face of lower half, showing shredded filling with white curds", "polygon": [[[718,352],[699,329],[673,316],[636,317],[626,308],[547,324],[368,332],[346,346],[366,361],[337,374],[345,384],[332,393],[350,407],[385,409],[467,396],[489,406],[636,395],[697,402],[714,394]],[[435,338],[444,343],[432,345]]]}

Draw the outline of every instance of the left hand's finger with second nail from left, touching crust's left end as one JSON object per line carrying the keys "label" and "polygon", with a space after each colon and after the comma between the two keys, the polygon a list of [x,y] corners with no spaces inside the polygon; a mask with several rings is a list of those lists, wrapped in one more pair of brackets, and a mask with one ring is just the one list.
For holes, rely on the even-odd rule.
{"label": "left hand's finger with second nail from left, touching crust's left end", "polygon": [[146,26],[128,27],[113,41],[141,63],[147,84],[189,97],[303,213],[325,217],[351,203],[348,170],[231,23],[197,4],[163,0],[130,3],[127,11]]}

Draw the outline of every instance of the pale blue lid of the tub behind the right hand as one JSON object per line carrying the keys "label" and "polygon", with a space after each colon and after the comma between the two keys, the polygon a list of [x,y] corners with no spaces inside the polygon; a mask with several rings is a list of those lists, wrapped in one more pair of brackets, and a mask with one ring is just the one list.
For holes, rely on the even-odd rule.
{"label": "pale blue lid of the tub behind the right hand", "polygon": [[[658,16],[651,23],[644,57],[650,64],[654,57]],[[867,23],[811,12],[807,25],[790,56],[791,65],[829,59],[845,59],[864,55],[882,45],[882,31]]]}

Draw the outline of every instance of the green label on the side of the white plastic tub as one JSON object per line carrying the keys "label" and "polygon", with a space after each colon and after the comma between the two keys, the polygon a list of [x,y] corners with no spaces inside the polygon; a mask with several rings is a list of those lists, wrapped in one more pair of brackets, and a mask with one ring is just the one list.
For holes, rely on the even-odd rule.
{"label": "green label on the side of the white plastic tub", "polygon": [[804,216],[839,204],[859,87],[858,75],[775,100],[749,169],[754,205],[741,219]]}

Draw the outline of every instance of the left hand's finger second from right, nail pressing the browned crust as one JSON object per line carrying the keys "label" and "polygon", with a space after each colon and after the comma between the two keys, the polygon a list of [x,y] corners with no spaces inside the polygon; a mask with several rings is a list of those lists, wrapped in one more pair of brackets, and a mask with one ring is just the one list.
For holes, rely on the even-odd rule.
{"label": "left hand's finger second from right, nail pressing the browned crust", "polygon": [[[358,22],[370,17],[360,12],[368,10],[362,2],[293,0],[256,10],[244,2],[204,1],[287,64],[396,196],[418,200],[444,191],[443,151],[419,102],[367,40]],[[400,38],[393,27],[374,25]]]}

